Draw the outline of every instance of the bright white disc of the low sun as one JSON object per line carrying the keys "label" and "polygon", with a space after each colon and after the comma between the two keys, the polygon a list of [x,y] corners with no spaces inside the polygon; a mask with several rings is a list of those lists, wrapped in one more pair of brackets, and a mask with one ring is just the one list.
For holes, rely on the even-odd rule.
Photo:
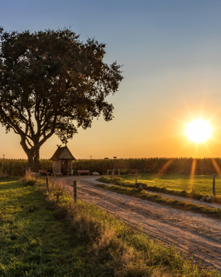
{"label": "bright white disc of the low sun", "polygon": [[191,141],[204,142],[211,136],[212,128],[207,121],[202,119],[193,120],[186,128],[186,134]]}

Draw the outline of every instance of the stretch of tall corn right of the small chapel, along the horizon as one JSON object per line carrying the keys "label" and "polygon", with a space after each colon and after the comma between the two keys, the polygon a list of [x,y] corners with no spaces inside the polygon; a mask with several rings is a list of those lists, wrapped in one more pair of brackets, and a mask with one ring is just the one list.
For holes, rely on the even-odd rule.
{"label": "stretch of tall corn right of the small chapel, along the horizon", "polygon": [[[74,154],[74,153],[73,153]],[[220,158],[142,158],[142,159],[117,159],[115,161],[115,175],[118,174],[118,168],[121,175],[138,173],[160,173],[160,174],[191,174],[193,161],[195,161],[195,175],[213,174],[218,168],[221,168]],[[112,170],[114,166],[113,159],[81,159],[73,162],[73,169],[97,171],[99,174],[106,174],[107,170]]]}

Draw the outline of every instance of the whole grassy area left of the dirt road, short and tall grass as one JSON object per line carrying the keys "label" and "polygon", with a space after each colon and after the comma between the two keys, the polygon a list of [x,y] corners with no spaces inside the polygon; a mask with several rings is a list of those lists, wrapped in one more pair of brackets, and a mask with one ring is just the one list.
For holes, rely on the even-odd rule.
{"label": "whole grassy area left of the dirt road, short and tall grass", "polygon": [[0,276],[220,276],[56,184],[1,179]]}

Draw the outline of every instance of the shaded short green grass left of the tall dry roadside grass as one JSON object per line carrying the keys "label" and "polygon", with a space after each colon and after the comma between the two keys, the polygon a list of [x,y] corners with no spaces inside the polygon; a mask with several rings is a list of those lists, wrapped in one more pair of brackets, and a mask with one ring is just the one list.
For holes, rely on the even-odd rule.
{"label": "shaded short green grass left of the tall dry roadside grass", "polygon": [[[18,181],[8,182],[0,184],[0,193],[6,195],[0,204],[0,276],[89,274],[86,244],[75,240],[61,209],[48,202],[37,186],[24,188]],[[73,270],[70,265],[75,262]]]}

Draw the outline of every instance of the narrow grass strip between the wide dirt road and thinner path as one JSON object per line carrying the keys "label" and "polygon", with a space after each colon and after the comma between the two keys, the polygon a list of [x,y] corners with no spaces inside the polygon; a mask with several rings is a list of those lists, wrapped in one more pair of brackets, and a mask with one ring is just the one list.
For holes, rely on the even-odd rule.
{"label": "narrow grass strip between the wide dirt road and thinner path", "polygon": [[104,188],[105,190],[111,190],[115,193],[122,193],[124,195],[131,195],[133,197],[145,199],[151,202],[162,204],[164,206],[170,206],[171,208],[178,208],[183,211],[193,211],[196,213],[202,213],[215,220],[221,220],[221,209],[210,208],[204,205],[191,204],[190,202],[180,201],[176,199],[170,199],[163,197],[161,195],[147,193],[145,190],[139,191],[137,188],[128,188],[124,186],[108,186],[104,184],[98,184],[99,188]]}

